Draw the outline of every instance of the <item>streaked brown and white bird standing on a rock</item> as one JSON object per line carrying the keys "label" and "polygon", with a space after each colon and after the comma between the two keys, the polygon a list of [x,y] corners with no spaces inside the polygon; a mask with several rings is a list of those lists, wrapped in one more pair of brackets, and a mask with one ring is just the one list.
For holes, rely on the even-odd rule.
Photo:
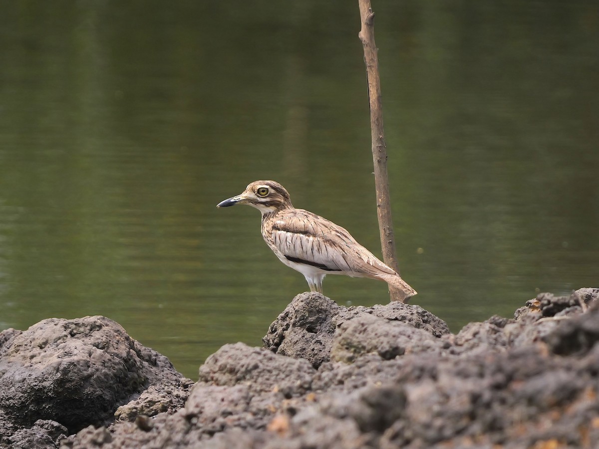
{"label": "streaked brown and white bird standing on a rock", "polygon": [[264,241],[285,265],[304,275],[311,292],[322,293],[328,274],[385,281],[401,301],[416,295],[397,272],[359,244],[346,229],[307,210],[296,209],[289,193],[276,181],[254,181],[243,193],[216,207],[247,204],[262,214]]}

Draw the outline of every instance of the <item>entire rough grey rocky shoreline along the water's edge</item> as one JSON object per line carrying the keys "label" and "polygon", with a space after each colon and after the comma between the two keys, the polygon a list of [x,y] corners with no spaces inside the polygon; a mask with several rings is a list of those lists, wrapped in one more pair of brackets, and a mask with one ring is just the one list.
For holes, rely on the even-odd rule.
{"label": "entire rough grey rocky shoreline along the water's edge", "polygon": [[302,293],[184,378],[105,317],[0,333],[0,448],[599,447],[599,289],[452,334]]}

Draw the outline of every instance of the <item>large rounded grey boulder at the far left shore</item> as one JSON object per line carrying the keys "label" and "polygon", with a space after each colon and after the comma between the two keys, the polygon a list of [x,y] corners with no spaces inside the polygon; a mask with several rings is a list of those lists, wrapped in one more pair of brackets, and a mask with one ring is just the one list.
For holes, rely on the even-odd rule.
{"label": "large rounded grey boulder at the far left shore", "polygon": [[40,419],[68,433],[106,423],[147,387],[181,379],[166,357],[105,317],[43,320],[8,333],[0,347],[0,409],[25,429]]}

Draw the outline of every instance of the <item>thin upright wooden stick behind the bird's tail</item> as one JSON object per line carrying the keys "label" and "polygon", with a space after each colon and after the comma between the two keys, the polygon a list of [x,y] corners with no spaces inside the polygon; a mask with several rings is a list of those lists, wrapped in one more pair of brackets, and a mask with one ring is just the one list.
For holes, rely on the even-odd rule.
{"label": "thin upright wooden stick behind the bird's tail", "polygon": [[[374,13],[370,0],[358,0],[362,28],[358,37],[364,47],[364,62],[368,79],[368,100],[370,102],[370,129],[374,163],[374,185],[376,186],[377,216],[379,218],[380,244],[383,262],[399,274],[400,269],[395,253],[391,202],[389,201],[389,178],[387,176],[387,150],[383,131],[383,104],[380,95],[379,59],[374,44]],[[403,295],[389,287],[391,301],[402,301]]]}

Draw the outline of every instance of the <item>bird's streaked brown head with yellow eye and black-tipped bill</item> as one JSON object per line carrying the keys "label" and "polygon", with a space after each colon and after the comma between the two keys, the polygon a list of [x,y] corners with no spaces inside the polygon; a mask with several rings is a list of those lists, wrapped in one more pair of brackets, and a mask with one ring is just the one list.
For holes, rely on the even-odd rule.
{"label": "bird's streaked brown head with yellow eye and black-tipped bill", "polygon": [[225,199],[216,207],[229,207],[235,204],[249,204],[261,211],[262,215],[293,207],[285,187],[275,181],[254,181],[241,195]]}

